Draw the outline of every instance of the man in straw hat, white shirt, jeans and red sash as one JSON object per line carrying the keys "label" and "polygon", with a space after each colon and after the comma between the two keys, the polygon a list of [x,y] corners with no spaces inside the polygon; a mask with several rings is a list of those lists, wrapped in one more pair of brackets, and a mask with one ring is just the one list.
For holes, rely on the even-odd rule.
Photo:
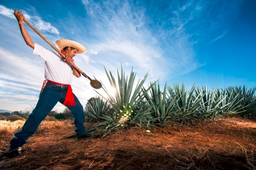
{"label": "man in straw hat, white shirt, jeans and red sash", "polygon": [[67,106],[73,114],[77,138],[84,139],[93,136],[94,133],[88,133],[84,127],[85,117],[83,107],[75,94],[72,93],[70,86],[73,75],[76,77],[81,76],[70,64],[74,62],[72,58],[76,56],[76,54],[86,52],[86,48],[75,41],[58,40],[56,41],[56,45],[66,56],[65,59],[63,59],[59,54],[35,44],[23,25],[24,16],[22,13],[15,10],[14,15],[18,20],[20,32],[26,44],[34,49],[34,55],[40,56],[45,60],[45,82],[47,82],[44,82],[42,86],[42,91],[35,109],[28,116],[21,131],[14,134],[15,137],[13,137],[10,142],[10,149],[6,156],[11,158],[20,154],[23,144],[35,133],[40,123],[58,101]]}

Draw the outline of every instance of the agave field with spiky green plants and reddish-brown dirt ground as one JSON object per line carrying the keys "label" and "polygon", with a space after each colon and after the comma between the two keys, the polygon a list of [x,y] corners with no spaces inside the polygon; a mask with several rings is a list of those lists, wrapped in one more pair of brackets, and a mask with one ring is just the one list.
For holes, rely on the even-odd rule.
{"label": "agave field with spiky green plants and reddish-brown dirt ground", "polygon": [[97,135],[69,138],[73,120],[48,116],[8,159],[2,153],[25,120],[3,117],[0,169],[256,170],[255,88],[145,85],[148,73],[135,82],[136,73],[122,67],[117,78],[106,75],[114,95],[102,83],[104,94],[84,108],[87,131]]}

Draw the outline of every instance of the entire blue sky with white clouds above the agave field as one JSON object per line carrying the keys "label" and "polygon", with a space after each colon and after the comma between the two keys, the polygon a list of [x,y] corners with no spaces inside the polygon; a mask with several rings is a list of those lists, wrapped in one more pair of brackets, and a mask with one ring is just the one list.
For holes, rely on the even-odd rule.
{"label": "entire blue sky with white clouds above the agave field", "polygon": [[[44,60],[25,44],[15,9],[50,42],[83,44],[88,52],[75,63],[107,87],[104,66],[117,75],[122,63],[126,75],[133,67],[137,81],[149,70],[148,84],[159,79],[162,87],[184,82],[213,89],[256,86],[255,8],[254,0],[1,0],[0,109],[35,105],[44,81]],[[35,43],[53,50],[25,26]],[[97,95],[84,77],[74,78],[72,88],[83,106]]]}

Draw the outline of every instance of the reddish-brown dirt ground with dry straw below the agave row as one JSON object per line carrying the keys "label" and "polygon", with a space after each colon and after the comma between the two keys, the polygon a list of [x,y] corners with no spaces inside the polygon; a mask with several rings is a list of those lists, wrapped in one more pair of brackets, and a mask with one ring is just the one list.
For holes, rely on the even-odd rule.
{"label": "reddish-brown dirt ground with dry straw below the agave row", "polygon": [[[0,169],[255,169],[256,121],[241,117],[216,122],[194,121],[153,128],[134,127],[104,138],[63,139],[74,133],[73,121],[54,129],[38,129],[22,154],[3,158]],[[87,127],[94,124],[86,123]],[[1,152],[12,136],[2,134]]]}

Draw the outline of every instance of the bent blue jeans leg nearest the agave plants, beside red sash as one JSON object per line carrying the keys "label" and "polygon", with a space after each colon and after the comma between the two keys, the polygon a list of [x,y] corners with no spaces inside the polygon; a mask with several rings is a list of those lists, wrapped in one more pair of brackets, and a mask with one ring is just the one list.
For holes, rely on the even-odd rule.
{"label": "bent blue jeans leg nearest the agave plants, beside red sash", "polygon": [[76,127],[76,136],[79,137],[85,132],[85,126],[84,126],[84,109],[83,106],[81,105],[80,101],[77,99],[77,96],[75,94],[74,99],[75,99],[75,106],[69,106],[69,110],[74,116],[74,124]]}

